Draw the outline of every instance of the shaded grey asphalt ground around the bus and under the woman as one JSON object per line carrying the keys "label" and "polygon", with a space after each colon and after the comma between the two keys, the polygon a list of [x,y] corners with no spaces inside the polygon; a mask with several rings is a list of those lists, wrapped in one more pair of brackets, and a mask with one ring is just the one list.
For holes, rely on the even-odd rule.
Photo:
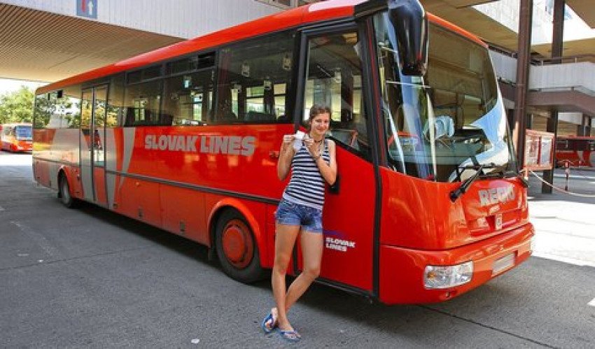
{"label": "shaded grey asphalt ground around the bus and under the woman", "polygon": [[[285,346],[260,332],[267,281],[237,283],[201,245],[102,208],[64,208],[30,162],[0,152],[0,346]],[[314,285],[290,318],[304,347],[594,348],[595,267],[531,257],[422,306]]]}

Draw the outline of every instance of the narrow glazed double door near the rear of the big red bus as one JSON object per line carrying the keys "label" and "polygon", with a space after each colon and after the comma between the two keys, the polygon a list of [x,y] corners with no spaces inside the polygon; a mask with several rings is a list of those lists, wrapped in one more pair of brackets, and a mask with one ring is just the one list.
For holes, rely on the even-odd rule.
{"label": "narrow glazed double door near the rear of the big red bus", "polygon": [[105,122],[107,85],[83,90],[80,113],[80,177],[85,200],[107,206]]}

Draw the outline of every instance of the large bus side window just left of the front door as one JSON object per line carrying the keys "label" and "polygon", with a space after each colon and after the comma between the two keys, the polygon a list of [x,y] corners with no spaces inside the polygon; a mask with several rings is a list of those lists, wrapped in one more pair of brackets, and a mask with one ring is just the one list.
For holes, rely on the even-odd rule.
{"label": "large bus side window just left of the front door", "polygon": [[214,122],[290,122],[286,92],[293,36],[276,34],[221,50]]}

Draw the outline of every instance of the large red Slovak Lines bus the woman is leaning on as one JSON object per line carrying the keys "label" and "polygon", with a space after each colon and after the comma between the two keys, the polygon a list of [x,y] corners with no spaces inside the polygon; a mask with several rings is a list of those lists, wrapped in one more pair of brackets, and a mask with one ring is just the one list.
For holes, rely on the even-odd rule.
{"label": "large red Slovak Lines bus the woman is leaning on", "polygon": [[281,138],[328,104],[340,183],[318,282],[386,304],[482,285],[534,235],[488,50],[394,4],[314,3],[41,87],[34,176],[66,206],[203,243],[249,283],[273,264]]}

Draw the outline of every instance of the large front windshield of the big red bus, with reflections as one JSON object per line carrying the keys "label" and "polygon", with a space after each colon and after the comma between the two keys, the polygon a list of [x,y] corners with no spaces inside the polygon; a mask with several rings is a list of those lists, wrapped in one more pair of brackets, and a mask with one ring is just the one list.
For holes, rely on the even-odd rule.
{"label": "large front windshield of the big red bus, with reflections", "polygon": [[374,18],[388,159],[395,171],[438,182],[516,170],[488,50],[430,24],[428,71],[405,76],[387,13]]}

